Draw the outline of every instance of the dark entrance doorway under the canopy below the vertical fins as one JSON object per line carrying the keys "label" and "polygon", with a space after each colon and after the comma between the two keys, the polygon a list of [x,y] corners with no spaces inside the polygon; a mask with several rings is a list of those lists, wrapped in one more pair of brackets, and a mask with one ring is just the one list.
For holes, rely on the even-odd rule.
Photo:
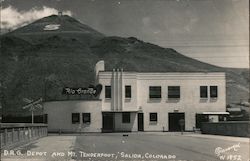
{"label": "dark entrance doorway under the canopy below the vertical fins", "polygon": [[102,132],[114,131],[114,114],[109,112],[102,113]]}

